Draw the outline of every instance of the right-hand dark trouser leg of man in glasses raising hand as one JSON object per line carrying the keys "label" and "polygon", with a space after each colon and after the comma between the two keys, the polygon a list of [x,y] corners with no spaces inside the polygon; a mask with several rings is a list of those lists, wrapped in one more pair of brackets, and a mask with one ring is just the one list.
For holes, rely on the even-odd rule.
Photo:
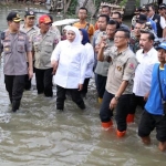
{"label": "right-hand dark trouser leg of man in glasses raising hand", "polygon": [[131,100],[131,94],[124,94],[120,97],[116,106],[115,120],[117,123],[117,129],[120,132],[124,132],[127,128],[126,117],[128,114],[129,100]]}

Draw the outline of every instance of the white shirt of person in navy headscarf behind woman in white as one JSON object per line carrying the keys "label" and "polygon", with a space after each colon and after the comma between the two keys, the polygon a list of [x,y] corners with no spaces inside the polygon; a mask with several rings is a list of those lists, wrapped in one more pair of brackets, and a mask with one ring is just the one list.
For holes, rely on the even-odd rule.
{"label": "white shirt of person in navy headscarf behind woman in white", "polygon": [[87,58],[87,68],[85,72],[85,77],[92,77],[94,65],[94,50],[90,43],[86,43],[84,46],[86,50],[86,58]]}

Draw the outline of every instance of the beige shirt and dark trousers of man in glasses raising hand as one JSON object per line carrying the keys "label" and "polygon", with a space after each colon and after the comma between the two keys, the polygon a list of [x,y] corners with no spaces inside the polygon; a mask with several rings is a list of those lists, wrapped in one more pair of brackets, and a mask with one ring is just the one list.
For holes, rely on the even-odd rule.
{"label": "beige shirt and dark trousers of man in glasses raising hand", "polygon": [[115,120],[117,131],[126,131],[126,116],[128,112],[129,97],[133,89],[133,76],[137,66],[135,54],[129,48],[126,48],[122,53],[117,52],[117,48],[112,46],[110,54],[112,62],[107,73],[107,81],[103,103],[100,111],[102,125],[111,124],[113,112],[110,110],[110,102],[117,93],[123,81],[127,81],[128,85],[118,98],[116,106]]}

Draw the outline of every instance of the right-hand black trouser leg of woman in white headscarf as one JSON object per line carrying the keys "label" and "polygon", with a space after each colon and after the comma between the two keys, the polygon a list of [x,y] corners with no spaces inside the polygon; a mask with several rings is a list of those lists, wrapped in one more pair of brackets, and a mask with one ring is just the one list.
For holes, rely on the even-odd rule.
{"label": "right-hand black trouser leg of woman in white headscarf", "polygon": [[77,89],[72,89],[72,90],[70,90],[70,92],[71,92],[72,101],[74,103],[76,103],[76,105],[80,108],[84,110],[85,108],[85,104],[84,104],[83,98],[81,97],[80,91]]}

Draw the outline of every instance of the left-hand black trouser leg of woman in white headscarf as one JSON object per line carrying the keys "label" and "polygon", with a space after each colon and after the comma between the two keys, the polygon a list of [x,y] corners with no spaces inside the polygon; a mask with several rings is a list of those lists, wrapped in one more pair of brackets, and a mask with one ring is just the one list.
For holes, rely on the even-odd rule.
{"label": "left-hand black trouser leg of woman in white headscarf", "polygon": [[56,85],[56,108],[58,110],[64,108],[65,92],[66,89]]}

